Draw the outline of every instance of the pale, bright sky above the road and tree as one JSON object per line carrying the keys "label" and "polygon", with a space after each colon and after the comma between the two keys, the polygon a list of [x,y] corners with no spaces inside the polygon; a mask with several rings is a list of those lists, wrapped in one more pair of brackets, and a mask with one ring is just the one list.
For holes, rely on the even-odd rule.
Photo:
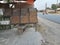
{"label": "pale, bright sky above the road and tree", "polygon": [[[58,3],[60,0],[58,0]],[[56,4],[57,0],[36,0],[34,2],[34,7],[38,10],[45,9],[45,5],[47,4],[47,7],[51,7],[52,4]]]}

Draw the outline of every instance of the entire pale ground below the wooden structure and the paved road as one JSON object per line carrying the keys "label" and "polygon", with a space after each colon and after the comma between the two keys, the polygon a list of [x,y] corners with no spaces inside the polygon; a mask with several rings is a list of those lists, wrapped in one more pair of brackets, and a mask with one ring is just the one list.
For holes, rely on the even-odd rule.
{"label": "entire pale ground below the wooden structure and the paved road", "polygon": [[[44,44],[42,44],[45,42]],[[60,45],[60,24],[38,17],[37,31],[27,28],[18,33],[17,28],[0,32],[0,45]]]}

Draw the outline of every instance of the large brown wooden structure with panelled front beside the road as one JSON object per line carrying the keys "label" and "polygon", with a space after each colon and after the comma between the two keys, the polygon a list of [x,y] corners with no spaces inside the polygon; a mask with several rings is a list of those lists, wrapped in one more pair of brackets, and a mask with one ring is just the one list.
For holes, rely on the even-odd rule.
{"label": "large brown wooden structure with panelled front beside the road", "polygon": [[33,4],[27,3],[0,3],[3,9],[3,16],[9,16],[10,25],[26,25],[36,24],[37,10],[33,8]]}

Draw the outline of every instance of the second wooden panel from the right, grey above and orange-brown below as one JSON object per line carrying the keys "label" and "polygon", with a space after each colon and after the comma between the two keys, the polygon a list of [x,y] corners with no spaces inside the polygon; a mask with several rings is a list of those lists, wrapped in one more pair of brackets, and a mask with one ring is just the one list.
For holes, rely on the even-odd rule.
{"label": "second wooden panel from the right, grey above and orange-brown below", "polygon": [[29,23],[28,21],[28,9],[22,8],[21,9],[21,23]]}

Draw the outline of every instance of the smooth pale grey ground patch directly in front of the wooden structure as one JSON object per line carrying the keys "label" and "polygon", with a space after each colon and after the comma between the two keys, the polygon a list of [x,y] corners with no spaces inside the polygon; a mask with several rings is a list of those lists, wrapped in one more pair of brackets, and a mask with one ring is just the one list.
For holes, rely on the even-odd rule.
{"label": "smooth pale grey ground patch directly in front of the wooden structure", "polygon": [[11,29],[0,33],[0,45],[41,45],[44,39],[35,28],[26,28],[23,33]]}

